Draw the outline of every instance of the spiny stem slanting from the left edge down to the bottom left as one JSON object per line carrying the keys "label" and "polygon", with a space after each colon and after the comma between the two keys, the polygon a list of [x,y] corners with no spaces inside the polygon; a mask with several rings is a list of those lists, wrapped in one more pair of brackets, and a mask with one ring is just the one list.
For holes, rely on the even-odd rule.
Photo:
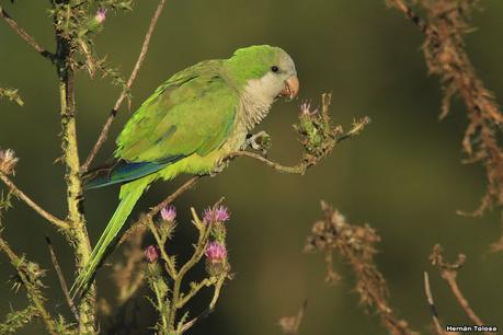
{"label": "spiny stem slanting from the left edge down to the bottom left", "polygon": [[23,270],[22,268],[25,262],[21,257],[19,257],[14,253],[14,251],[12,251],[12,249],[9,246],[9,244],[7,244],[7,242],[2,238],[0,238],[0,250],[9,257],[11,264],[18,272],[21,281],[23,282],[23,286],[26,289],[27,297],[30,301],[33,303],[33,305],[36,308],[42,320],[44,321],[47,331],[53,335],[58,335],[57,325],[44,305],[44,298],[41,296],[39,291],[32,282],[31,279],[33,278],[28,277],[30,273],[26,273],[26,270]]}

